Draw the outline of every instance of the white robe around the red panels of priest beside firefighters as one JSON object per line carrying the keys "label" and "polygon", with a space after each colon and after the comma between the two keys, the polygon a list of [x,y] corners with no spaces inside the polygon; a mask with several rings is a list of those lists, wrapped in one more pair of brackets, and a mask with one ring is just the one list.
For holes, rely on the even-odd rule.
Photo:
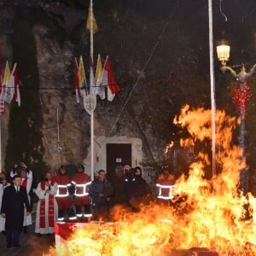
{"label": "white robe around the red panels of priest beside firefighters", "polygon": [[[49,227],[49,195],[54,195],[54,220],[58,218],[58,205],[57,201],[55,200],[55,195],[57,193],[58,187],[57,183],[54,183],[53,186],[50,186],[49,193],[46,192],[48,189],[47,186],[45,186],[46,189],[41,188],[41,183],[38,183],[38,188],[36,189],[35,193],[38,195],[38,205],[37,205],[37,218],[36,218],[36,228],[35,233],[40,234],[52,234],[55,232],[54,227]],[[44,201],[43,201],[44,200]],[[40,228],[40,206],[42,203],[45,203],[45,227]]]}

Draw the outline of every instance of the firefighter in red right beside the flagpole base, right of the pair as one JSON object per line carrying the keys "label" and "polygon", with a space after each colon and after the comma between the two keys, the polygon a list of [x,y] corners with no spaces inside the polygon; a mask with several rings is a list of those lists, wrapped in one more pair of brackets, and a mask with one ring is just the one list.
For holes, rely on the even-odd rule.
{"label": "firefighter in red right beside the flagpole base, right of the pair", "polygon": [[[75,185],[75,199],[74,205],[76,207],[77,218],[87,218],[87,222],[90,222],[92,216],[90,212],[90,176],[84,173],[84,166],[78,165],[77,173],[73,175],[72,183]],[[84,213],[83,213],[84,207]]]}

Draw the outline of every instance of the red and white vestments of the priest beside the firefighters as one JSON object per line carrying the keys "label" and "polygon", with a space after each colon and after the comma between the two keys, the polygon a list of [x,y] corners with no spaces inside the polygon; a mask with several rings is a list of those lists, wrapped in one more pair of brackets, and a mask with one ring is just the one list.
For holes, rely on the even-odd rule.
{"label": "red and white vestments of the priest beside the firefighters", "polygon": [[57,183],[50,182],[49,193],[46,192],[49,187],[43,181],[38,183],[36,195],[38,195],[38,207],[36,218],[36,233],[50,234],[55,231],[55,220],[57,218],[58,206],[55,201],[55,194],[57,192]]}

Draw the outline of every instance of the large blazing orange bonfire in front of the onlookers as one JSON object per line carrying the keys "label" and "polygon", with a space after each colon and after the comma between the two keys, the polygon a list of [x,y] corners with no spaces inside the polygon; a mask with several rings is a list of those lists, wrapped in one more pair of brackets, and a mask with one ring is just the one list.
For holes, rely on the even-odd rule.
{"label": "large blazing orange bonfire in front of the onlookers", "polygon": [[[237,193],[240,170],[246,167],[239,160],[239,147],[231,145],[238,120],[219,110],[216,120],[217,177],[204,178],[211,163],[201,151],[189,167],[189,177],[177,180],[179,196],[171,207],[155,202],[140,212],[115,207],[113,223],[87,224],[45,255],[177,255],[190,247],[207,247],[219,255],[256,255],[256,201]],[[174,121],[192,138],[181,141],[184,147],[211,140],[211,110],[185,106]]]}

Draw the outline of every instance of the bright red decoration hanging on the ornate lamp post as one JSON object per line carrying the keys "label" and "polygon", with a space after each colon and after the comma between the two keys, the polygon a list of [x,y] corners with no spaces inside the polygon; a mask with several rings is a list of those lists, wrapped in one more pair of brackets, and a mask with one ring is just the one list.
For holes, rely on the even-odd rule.
{"label": "bright red decoration hanging on the ornate lamp post", "polygon": [[246,82],[236,84],[232,91],[234,94],[232,101],[236,105],[236,111],[245,118],[247,116],[247,102],[251,99],[253,93]]}

